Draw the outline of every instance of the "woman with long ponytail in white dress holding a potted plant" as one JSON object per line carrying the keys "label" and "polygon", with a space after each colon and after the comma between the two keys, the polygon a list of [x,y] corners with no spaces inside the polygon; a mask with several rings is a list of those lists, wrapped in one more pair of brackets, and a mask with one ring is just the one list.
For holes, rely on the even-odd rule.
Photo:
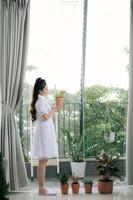
{"label": "woman with long ponytail in white dress holding a potted plant", "polygon": [[44,79],[37,78],[31,102],[32,121],[37,119],[37,126],[33,139],[33,159],[38,159],[38,184],[39,195],[54,195],[55,192],[49,191],[44,185],[46,163],[48,159],[57,157],[57,142],[53,115],[57,106],[51,106],[48,98],[48,86]]}

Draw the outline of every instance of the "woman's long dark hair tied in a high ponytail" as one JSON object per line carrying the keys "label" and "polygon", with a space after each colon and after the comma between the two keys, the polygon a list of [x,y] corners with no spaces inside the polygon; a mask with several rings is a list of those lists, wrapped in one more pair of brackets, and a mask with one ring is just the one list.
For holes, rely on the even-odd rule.
{"label": "woman's long dark hair tied in a high ponytail", "polygon": [[38,94],[40,90],[43,90],[43,88],[46,86],[46,81],[42,79],[41,77],[37,78],[33,87],[33,95],[32,95],[32,102],[31,102],[31,118],[32,121],[36,120],[36,108],[35,103],[38,99]]}

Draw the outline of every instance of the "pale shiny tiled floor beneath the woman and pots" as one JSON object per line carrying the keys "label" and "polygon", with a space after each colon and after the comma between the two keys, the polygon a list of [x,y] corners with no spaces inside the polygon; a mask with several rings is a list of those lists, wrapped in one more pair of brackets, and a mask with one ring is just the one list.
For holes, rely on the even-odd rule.
{"label": "pale shiny tiled floor beneath the woman and pots", "polygon": [[60,184],[56,181],[47,182],[47,187],[52,188],[57,191],[56,196],[39,196],[37,193],[37,183],[34,182],[28,187],[22,188],[19,192],[11,194],[11,200],[133,200],[133,186],[117,186],[114,185],[114,190],[112,194],[102,195],[97,191],[96,185],[93,187],[92,194],[85,194],[83,183],[80,183],[80,192],[78,195],[73,195],[71,193],[71,188],[69,187],[69,194],[62,195],[60,192]]}

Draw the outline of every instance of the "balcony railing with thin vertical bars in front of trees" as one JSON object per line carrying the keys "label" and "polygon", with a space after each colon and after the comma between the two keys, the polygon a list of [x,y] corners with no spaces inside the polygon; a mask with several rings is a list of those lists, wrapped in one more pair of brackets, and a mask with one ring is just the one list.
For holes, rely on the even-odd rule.
{"label": "balcony railing with thin vertical bars in front of trees", "polygon": [[[126,108],[121,112],[115,104],[107,107],[106,104],[101,103],[99,107],[97,106],[91,103],[84,104],[84,156],[93,157],[102,150],[124,156]],[[16,114],[25,159],[30,157],[34,129],[29,110],[29,105],[22,104]],[[55,116],[54,122],[58,134],[59,157],[70,158],[70,149],[63,130],[69,130],[74,135],[79,133],[80,104],[65,103]]]}

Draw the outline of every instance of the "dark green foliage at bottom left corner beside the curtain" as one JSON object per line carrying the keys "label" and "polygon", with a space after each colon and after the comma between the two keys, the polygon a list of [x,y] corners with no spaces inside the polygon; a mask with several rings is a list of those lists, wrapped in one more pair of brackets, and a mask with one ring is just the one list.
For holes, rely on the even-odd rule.
{"label": "dark green foliage at bottom left corner beside the curtain", "polygon": [[9,184],[6,183],[5,172],[3,169],[3,156],[0,153],[0,199],[4,199],[9,194]]}

